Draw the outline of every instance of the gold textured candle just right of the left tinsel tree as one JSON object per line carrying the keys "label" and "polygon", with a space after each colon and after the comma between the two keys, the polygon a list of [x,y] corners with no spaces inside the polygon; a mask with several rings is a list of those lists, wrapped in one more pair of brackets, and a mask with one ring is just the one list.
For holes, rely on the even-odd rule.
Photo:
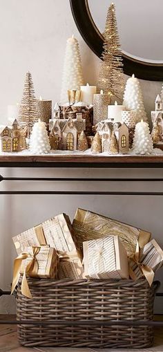
{"label": "gold textured candle just right of the left tinsel tree", "polygon": [[38,118],[41,121],[49,123],[52,118],[52,100],[43,100],[41,97],[37,100]]}

